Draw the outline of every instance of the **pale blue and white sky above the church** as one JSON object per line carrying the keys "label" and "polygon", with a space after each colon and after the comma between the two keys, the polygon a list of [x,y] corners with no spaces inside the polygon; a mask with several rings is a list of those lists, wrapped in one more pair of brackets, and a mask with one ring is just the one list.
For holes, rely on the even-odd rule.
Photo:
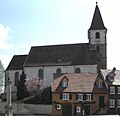
{"label": "pale blue and white sky above the church", "polygon": [[[97,0],[107,32],[108,69],[120,70],[120,0]],[[0,60],[31,46],[87,43],[96,0],[0,0]]]}

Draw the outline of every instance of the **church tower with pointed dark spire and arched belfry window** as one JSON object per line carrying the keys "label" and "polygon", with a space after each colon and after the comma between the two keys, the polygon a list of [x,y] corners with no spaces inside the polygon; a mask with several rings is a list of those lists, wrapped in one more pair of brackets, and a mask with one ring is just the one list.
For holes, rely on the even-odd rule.
{"label": "church tower with pointed dark spire and arched belfry window", "polygon": [[104,26],[99,7],[96,3],[91,26],[88,30],[89,49],[97,50],[98,66],[101,69],[107,68],[107,29]]}

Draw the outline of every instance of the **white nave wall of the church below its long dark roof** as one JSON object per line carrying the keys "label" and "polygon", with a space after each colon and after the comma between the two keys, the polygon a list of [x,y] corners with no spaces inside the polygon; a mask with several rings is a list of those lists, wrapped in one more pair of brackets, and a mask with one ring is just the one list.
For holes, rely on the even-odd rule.
{"label": "white nave wall of the church below its long dark roof", "polygon": [[24,70],[28,78],[38,78],[38,70],[43,69],[45,86],[50,86],[53,82],[53,73],[56,73],[58,68],[61,69],[61,73],[75,73],[77,67],[81,69],[81,73],[97,73],[97,65],[24,67]]}

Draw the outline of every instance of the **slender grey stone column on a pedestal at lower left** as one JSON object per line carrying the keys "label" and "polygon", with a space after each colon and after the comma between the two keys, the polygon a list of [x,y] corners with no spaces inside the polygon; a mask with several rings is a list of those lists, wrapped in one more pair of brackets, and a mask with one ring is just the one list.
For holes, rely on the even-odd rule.
{"label": "slender grey stone column on a pedestal at lower left", "polygon": [[11,104],[11,81],[9,74],[6,74],[7,77],[7,104],[5,105],[5,116],[13,116],[13,107]]}

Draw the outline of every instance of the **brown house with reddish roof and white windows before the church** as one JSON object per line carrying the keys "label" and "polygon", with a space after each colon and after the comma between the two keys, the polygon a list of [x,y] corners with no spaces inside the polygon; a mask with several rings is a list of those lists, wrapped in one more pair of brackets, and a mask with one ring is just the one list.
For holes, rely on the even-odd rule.
{"label": "brown house with reddish roof and white windows before the church", "polygon": [[107,87],[98,73],[54,75],[51,86],[54,116],[107,113]]}

